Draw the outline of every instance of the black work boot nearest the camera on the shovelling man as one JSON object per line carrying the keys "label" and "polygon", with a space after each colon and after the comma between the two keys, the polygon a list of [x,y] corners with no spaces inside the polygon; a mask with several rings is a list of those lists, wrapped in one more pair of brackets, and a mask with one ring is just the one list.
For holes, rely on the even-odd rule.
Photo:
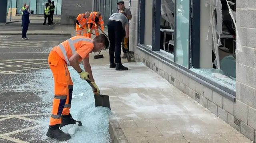
{"label": "black work boot nearest the camera on the shovelling man", "polygon": [[57,125],[50,125],[49,129],[46,133],[47,137],[50,137],[52,139],[57,139],[59,141],[66,141],[71,139],[70,134],[64,133],[62,129],[60,128],[60,124]]}

